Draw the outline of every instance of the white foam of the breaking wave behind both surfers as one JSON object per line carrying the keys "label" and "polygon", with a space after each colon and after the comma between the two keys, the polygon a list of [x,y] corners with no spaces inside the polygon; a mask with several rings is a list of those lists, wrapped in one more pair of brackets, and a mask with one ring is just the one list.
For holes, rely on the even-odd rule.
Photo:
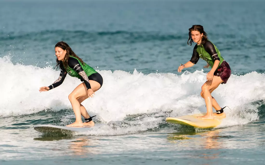
{"label": "white foam of the breaking wave behind both surfers", "polygon": [[[136,70],[133,73],[97,71],[104,79],[103,86],[94,98],[88,98],[82,104],[88,112],[98,114],[107,122],[122,121],[127,115],[134,114],[172,111],[170,116],[181,116],[206,112],[205,101],[200,97],[201,86],[206,81],[203,70],[186,71],[181,76],[173,73],[144,75]],[[67,75],[61,86],[48,92],[38,91],[39,87],[52,84],[59,74],[60,71],[51,67],[12,64],[9,56],[0,58],[0,116],[32,114],[45,109],[71,109],[68,95],[81,83],[79,79]],[[228,105],[232,109],[232,112],[226,111],[228,117],[222,126],[246,124],[258,119],[258,105],[250,105],[264,99],[265,76],[257,72],[231,75],[228,83],[221,84],[212,95],[221,107]],[[249,108],[251,112],[246,111]],[[163,122],[155,118],[153,116],[156,122],[150,126],[145,125],[148,122],[143,119],[139,122],[144,122],[143,129],[152,129]],[[131,127],[131,131],[141,130],[140,127]]]}

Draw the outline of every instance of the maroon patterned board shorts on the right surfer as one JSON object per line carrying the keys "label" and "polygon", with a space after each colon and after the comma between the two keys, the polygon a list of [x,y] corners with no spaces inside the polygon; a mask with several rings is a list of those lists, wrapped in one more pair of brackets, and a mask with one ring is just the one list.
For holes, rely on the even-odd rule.
{"label": "maroon patterned board shorts on the right surfer", "polygon": [[231,68],[229,64],[226,61],[223,61],[219,68],[214,72],[214,76],[220,76],[224,81],[222,84],[225,84],[231,76]]}

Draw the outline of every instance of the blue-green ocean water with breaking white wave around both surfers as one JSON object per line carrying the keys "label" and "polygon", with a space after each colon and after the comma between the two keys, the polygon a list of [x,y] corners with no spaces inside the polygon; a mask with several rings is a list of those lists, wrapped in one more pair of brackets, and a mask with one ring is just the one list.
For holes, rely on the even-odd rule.
{"label": "blue-green ocean water with breaking white wave around both surfers", "polygon": [[[264,164],[265,2],[0,1],[0,164]],[[203,25],[232,75],[213,97],[226,119],[215,129],[165,122],[206,112],[200,97],[210,68],[202,59],[178,73]],[[96,124],[73,135],[41,134],[67,125],[68,95],[80,80],[59,77],[54,46],[67,42],[104,84],[82,104]],[[93,118],[94,119],[94,118]]]}

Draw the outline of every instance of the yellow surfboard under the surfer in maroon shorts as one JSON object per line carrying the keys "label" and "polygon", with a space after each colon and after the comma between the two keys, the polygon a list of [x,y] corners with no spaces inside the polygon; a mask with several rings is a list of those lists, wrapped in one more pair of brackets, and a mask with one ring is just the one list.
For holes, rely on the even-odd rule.
{"label": "yellow surfboard under the surfer in maroon shorts", "polygon": [[[215,112],[216,113],[216,112]],[[204,114],[193,114],[179,117],[167,117],[166,122],[180,125],[193,126],[196,128],[214,128],[221,124],[222,120],[225,118],[222,115],[214,114],[214,119],[199,119],[197,116],[202,116]]]}

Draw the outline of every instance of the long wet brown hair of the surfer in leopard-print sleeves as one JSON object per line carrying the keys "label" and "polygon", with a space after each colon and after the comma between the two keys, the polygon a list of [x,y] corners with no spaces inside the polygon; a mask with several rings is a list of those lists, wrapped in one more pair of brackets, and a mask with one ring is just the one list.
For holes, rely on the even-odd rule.
{"label": "long wet brown hair of the surfer in leopard-print sleeves", "polygon": [[[64,56],[64,60],[63,60],[63,62],[61,62],[61,61],[59,61],[57,58],[56,58],[56,66],[54,67],[54,69],[56,68],[56,69],[58,69],[58,67],[60,68],[60,69],[62,69],[62,67],[64,66],[64,68],[65,69],[67,69],[68,68],[68,58],[69,58],[69,56],[73,56],[73,57],[76,57],[83,65],[85,64],[84,62],[83,62],[83,60],[81,59],[81,58],[79,58],[74,52],[73,52],[73,50],[70,48],[70,46],[67,44],[67,43],[65,43],[64,41],[60,41],[60,42],[58,42],[56,45],[55,45],[55,47],[54,48],[56,48],[56,47],[59,47],[59,48],[62,48],[63,50],[66,50],[66,54],[65,54],[65,56]],[[63,66],[61,66],[60,64],[61,63],[63,63]]]}

